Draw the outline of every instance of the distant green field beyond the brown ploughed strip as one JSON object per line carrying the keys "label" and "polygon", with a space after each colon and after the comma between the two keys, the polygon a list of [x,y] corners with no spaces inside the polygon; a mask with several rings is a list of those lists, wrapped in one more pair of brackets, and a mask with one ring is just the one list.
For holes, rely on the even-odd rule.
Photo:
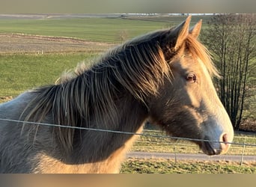
{"label": "distant green field beyond the brown ploughed strip", "polygon": [[[120,43],[121,31],[127,39],[183,22],[186,16],[83,19],[0,19],[0,33],[37,34],[55,37],[74,37],[107,43]],[[199,19],[205,22],[210,16],[193,16],[192,24]]]}

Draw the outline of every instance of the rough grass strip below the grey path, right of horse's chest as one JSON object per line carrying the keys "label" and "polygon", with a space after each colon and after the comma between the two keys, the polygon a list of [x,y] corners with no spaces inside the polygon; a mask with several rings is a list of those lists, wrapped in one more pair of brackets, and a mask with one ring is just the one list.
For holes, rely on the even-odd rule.
{"label": "rough grass strip below the grey path, right of horse's chest", "polygon": [[123,174],[256,174],[255,163],[127,159]]}

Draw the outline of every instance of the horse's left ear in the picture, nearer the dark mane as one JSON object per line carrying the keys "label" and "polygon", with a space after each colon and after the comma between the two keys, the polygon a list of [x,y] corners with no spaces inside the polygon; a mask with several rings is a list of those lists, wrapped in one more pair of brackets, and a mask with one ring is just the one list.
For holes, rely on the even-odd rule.
{"label": "horse's left ear in the picture, nearer the dark mane", "polygon": [[177,25],[177,27],[174,28],[173,31],[171,31],[171,34],[174,34],[174,36],[177,37],[174,50],[179,49],[183,41],[188,36],[190,20],[191,20],[191,15],[188,16],[184,22],[180,23],[180,25]]}

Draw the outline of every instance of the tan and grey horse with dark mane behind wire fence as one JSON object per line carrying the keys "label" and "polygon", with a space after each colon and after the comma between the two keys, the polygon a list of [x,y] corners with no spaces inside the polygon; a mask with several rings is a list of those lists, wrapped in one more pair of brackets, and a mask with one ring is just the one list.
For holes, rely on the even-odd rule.
{"label": "tan and grey horse with dark mane behind wire fence", "polygon": [[234,130],[213,85],[219,73],[198,40],[202,21],[190,20],[2,103],[0,172],[118,173],[146,121],[207,155],[227,153]]}

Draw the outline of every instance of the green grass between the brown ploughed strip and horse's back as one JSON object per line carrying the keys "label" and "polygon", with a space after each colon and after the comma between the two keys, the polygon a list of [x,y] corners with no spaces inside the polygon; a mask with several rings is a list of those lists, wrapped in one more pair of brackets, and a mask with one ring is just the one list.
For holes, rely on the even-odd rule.
{"label": "green grass between the brown ploughed strip and horse's back", "polygon": [[94,53],[0,55],[0,98],[54,84],[65,70],[72,70],[79,62],[94,56]]}

